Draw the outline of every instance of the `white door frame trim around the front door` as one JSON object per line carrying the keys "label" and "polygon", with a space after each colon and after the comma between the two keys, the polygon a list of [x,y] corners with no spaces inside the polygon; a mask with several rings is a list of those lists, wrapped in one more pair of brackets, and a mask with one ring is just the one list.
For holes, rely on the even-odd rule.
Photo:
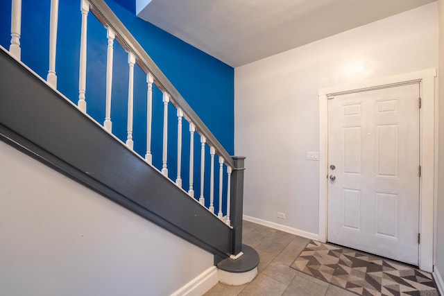
{"label": "white door frame trim around the front door", "polygon": [[[437,154],[436,132],[438,130],[438,118],[435,111],[438,110],[435,96],[436,68],[402,73],[396,76],[388,76],[366,80],[363,82],[348,83],[318,89],[319,98],[319,240],[327,241],[328,223],[328,96],[342,94],[344,92],[363,92],[400,85],[403,82],[417,80],[420,82],[420,208],[419,208],[419,267],[427,272],[433,271],[434,262],[434,203],[436,202],[437,188]],[[437,157],[436,157],[437,158]]]}

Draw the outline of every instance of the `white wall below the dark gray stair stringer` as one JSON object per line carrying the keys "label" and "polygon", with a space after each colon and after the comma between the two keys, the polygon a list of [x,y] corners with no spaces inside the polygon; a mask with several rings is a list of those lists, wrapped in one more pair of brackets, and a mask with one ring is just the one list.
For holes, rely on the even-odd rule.
{"label": "white wall below the dark gray stair stringer", "polygon": [[169,295],[212,254],[0,141],[0,295]]}

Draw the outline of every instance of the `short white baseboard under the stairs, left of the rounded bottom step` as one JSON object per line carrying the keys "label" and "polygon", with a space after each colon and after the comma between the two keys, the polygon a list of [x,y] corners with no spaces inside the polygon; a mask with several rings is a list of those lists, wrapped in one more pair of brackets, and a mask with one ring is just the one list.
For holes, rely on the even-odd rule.
{"label": "short white baseboard under the stairs, left of the rounded bottom step", "polygon": [[217,268],[212,266],[171,294],[171,296],[201,296],[218,282]]}

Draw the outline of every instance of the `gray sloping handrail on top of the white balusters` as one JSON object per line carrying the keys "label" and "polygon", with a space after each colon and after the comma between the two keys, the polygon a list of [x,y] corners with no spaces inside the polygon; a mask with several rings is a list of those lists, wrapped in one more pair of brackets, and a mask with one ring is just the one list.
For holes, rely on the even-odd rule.
{"label": "gray sloping handrail on top of the white balusters", "polygon": [[196,126],[196,131],[207,139],[208,145],[216,149],[216,154],[224,159],[226,165],[236,169],[230,154],[223,148],[221,143],[210,132],[205,123],[197,116],[196,112],[188,105],[187,101],[180,95],[176,87],[168,80],[167,76],[157,67],[155,62],[150,58],[148,53],[137,42],[135,37],[122,24],[120,19],[114,15],[114,12],[108,7],[103,0],[88,0],[90,9],[94,15],[99,19],[101,24],[108,25],[114,33],[116,33],[117,41],[123,46],[126,51],[131,51],[135,54],[137,64],[145,73],[151,73],[154,76],[154,83],[163,92],[167,92],[171,96],[171,103],[176,108],[180,108],[185,115],[185,119],[191,121]]}

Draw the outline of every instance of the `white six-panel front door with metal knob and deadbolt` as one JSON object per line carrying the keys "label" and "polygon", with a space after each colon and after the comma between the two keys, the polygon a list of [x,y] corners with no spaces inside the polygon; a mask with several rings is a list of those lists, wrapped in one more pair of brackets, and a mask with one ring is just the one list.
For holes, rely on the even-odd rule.
{"label": "white six-panel front door with metal knob and deadbolt", "polygon": [[419,92],[328,100],[328,241],[418,265]]}

